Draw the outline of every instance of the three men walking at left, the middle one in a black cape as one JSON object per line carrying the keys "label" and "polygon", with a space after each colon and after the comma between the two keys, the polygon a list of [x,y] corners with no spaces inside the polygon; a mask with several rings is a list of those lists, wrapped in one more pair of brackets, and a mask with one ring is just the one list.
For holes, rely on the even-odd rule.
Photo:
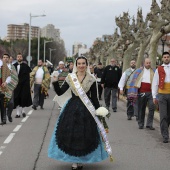
{"label": "three men walking at left, the middle one in a black cape", "polygon": [[[44,96],[48,94],[50,74],[42,60],[33,70],[23,61],[21,53],[17,55],[14,63],[13,57],[5,53],[0,59],[0,106],[1,125],[12,122],[12,111],[16,109],[15,118],[26,117],[25,107],[33,103],[43,109]],[[31,86],[34,84],[34,97],[32,102]]]}

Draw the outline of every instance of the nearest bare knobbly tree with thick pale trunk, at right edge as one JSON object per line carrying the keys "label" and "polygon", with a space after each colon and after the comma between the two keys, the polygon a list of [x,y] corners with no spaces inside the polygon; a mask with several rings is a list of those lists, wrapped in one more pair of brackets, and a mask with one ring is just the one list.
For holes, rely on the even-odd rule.
{"label": "nearest bare knobbly tree with thick pale trunk, at right edge", "polygon": [[150,40],[149,58],[152,67],[156,67],[156,57],[159,39],[170,32],[170,0],[162,0],[161,7],[156,0],[152,0],[151,11],[147,15],[152,28],[152,37]]}

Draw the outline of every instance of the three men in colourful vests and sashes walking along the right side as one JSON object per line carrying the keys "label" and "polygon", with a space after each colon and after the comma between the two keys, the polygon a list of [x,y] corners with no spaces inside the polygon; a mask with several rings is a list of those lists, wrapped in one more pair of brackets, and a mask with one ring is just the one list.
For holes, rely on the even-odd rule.
{"label": "three men in colourful vests and sashes walking along the right side", "polygon": [[170,125],[170,54],[162,54],[161,66],[151,68],[149,58],[144,59],[143,66],[136,68],[135,60],[125,70],[118,87],[121,94],[127,96],[127,119],[136,116],[139,129],[144,129],[145,112],[148,106],[146,128],[155,130],[153,119],[155,110],[160,114],[160,130],[163,143],[169,142]]}

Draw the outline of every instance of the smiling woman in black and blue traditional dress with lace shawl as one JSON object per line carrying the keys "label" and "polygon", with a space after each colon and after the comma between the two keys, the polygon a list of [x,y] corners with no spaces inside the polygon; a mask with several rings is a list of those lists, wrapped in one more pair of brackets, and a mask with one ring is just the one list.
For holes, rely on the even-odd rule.
{"label": "smiling woman in black and blue traditional dress with lace shawl", "polygon": [[95,116],[85,104],[85,98],[82,100],[78,94],[74,84],[77,83],[76,81],[95,109],[98,109],[100,105],[96,80],[90,74],[88,62],[84,56],[77,58],[73,73],[67,76],[61,87],[57,78],[53,80],[54,90],[59,96],[70,88],[72,97],[60,112],[50,141],[48,156],[60,161],[72,162],[73,170],[82,169],[82,163],[100,162],[108,157]]}

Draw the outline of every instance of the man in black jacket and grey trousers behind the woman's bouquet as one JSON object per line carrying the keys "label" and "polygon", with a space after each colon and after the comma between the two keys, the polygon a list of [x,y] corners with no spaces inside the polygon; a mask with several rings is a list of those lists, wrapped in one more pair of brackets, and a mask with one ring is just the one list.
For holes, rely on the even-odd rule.
{"label": "man in black jacket and grey trousers behind the woman's bouquet", "polygon": [[112,58],[110,65],[106,66],[104,69],[101,85],[104,87],[104,99],[108,110],[112,94],[112,109],[114,112],[117,112],[117,91],[120,78],[121,70],[118,66],[116,66],[116,60]]}

